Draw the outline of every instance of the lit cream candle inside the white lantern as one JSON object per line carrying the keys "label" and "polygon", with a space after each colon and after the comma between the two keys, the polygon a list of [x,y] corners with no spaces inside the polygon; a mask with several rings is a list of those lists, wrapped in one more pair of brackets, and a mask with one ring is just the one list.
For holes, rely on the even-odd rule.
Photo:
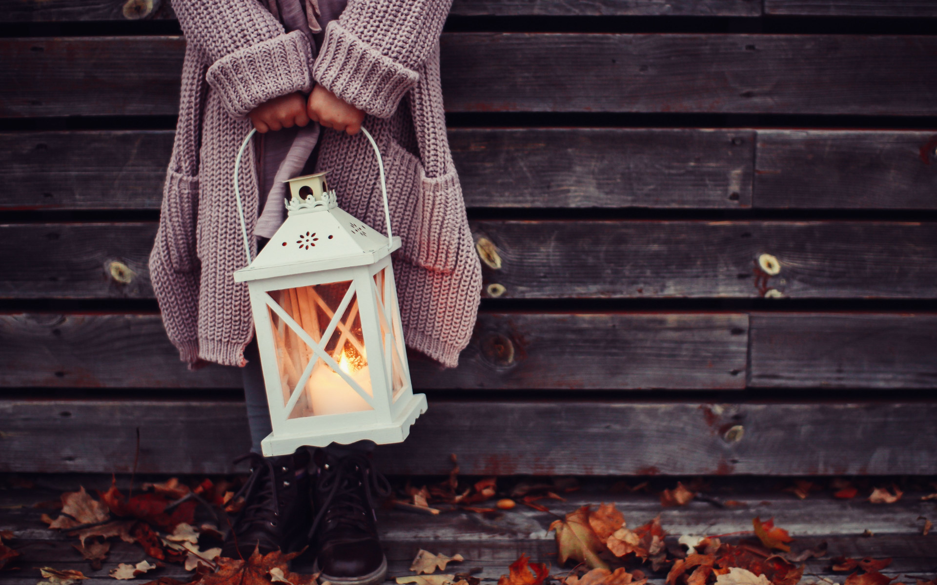
{"label": "lit cream candle inside the white lantern", "polygon": [[[343,373],[347,373],[352,380],[357,382],[358,386],[364,389],[368,396],[374,396],[367,365],[356,368],[355,361],[358,360],[364,361],[363,358],[350,359],[347,350],[343,351],[342,357],[338,361],[338,367]],[[371,410],[370,404],[364,402],[364,398],[358,392],[355,392],[342,376],[325,365],[322,360],[319,360],[319,363],[313,368],[309,381],[306,383],[306,388],[312,403],[312,412],[317,416]]]}

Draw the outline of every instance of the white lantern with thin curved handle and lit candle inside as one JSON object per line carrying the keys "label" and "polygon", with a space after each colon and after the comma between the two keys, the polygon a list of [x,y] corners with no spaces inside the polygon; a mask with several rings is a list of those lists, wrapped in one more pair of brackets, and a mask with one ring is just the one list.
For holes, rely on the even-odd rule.
{"label": "white lantern with thin curved handle and lit candle inside", "polygon": [[[332,442],[399,443],[426,411],[410,385],[391,265],[400,238],[391,234],[383,163],[362,132],[378,154],[388,235],[339,209],[325,172],[297,177],[287,220],[234,272],[250,292],[273,423],[261,442],[268,457]],[[235,165],[236,194],[251,135]]]}

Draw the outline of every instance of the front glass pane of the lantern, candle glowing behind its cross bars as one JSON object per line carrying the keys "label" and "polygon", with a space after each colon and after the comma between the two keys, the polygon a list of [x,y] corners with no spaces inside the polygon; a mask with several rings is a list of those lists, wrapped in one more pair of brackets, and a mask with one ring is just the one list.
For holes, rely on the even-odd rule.
{"label": "front glass pane of the lantern, candle glowing behind its cross bars", "polygon": [[[287,417],[373,410],[367,350],[352,282],[298,286],[268,294],[294,322],[270,311]],[[308,343],[310,338],[316,349]]]}

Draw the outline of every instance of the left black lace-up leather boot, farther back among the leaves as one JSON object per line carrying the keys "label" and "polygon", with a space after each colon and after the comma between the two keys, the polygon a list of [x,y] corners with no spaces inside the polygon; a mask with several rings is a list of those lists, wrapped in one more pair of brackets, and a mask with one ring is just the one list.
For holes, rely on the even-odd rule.
{"label": "left black lace-up leather boot, farther back among the leaves", "polygon": [[306,473],[308,452],[302,449],[279,457],[248,453],[234,462],[246,460],[250,460],[250,478],[232,499],[243,496],[245,505],[231,522],[232,530],[225,538],[221,556],[247,559],[254,548],[266,554],[305,547],[312,520]]}

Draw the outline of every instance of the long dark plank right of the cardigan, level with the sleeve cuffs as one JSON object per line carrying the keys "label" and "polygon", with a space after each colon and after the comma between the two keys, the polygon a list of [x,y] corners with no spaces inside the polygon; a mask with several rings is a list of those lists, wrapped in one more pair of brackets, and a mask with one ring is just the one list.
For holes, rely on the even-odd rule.
{"label": "long dark plank right of the cardigan, level with the sleeve cuffs", "polygon": [[935,47],[913,36],[453,33],[441,67],[450,111],[924,115],[937,109],[937,63],[918,61]]}

